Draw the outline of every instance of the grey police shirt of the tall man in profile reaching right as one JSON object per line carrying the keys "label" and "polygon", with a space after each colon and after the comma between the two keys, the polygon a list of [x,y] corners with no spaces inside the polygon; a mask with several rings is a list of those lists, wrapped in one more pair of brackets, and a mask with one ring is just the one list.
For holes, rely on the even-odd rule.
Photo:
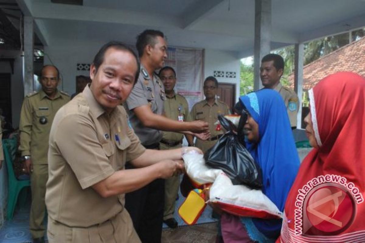
{"label": "grey police shirt of the tall man in profile reaching right", "polygon": [[134,85],[124,106],[128,112],[134,132],[145,146],[159,142],[162,138],[162,132],[143,126],[142,122],[133,112],[133,109],[139,106],[149,105],[153,113],[161,115],[165,99],[165,90],[160,78],[154,74],[153,79],[151,79],[145,68],[141,65],[138,81]]}

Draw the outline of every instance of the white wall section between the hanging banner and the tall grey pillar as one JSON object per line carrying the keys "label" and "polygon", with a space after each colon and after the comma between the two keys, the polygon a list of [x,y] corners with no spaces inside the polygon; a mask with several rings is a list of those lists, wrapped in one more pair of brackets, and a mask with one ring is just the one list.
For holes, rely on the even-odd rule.
{"label": "white wall section between the hanging banner and the tall grey pillar", "polygon": [[217,78],[219,83],[236,84],[236,102],[239,99],[239,65],[240,60],[235,52],[205,49],[204,54],[204,79],[213,76],[214,71],[236,72],[236,78]]}

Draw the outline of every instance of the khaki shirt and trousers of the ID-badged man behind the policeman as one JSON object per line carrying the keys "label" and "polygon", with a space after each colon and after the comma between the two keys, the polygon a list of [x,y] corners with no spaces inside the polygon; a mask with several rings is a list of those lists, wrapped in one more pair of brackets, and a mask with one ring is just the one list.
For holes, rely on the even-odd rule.
{"label": "khaki shirt and trousers of the ID-badged man behind the policeman", "polygon": [[[180,122],[191,121],[187,100],[180,94],[173,94],[172,97],[166,95],[164,102],[164,114],[167,118]],[[184,134],[176,132],[163,132],[160,141],[160,149],[181,148]],[[173,218],[175,201],[179,189],[179,176],[174,175],[165,179],[165,207],[164,220]]]}

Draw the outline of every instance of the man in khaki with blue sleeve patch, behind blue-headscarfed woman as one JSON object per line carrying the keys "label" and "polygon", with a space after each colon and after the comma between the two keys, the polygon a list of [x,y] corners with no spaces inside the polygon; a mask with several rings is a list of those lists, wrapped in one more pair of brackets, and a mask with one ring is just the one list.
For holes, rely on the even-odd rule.
{"label": "man in khaki with blue sleeve patch, behind blue-headscarfed woman", "polygon": [[260,77],[262,85],[267,89],[278,91],[283,97],[292,129],[296,128],[299,99],[297,94],[281,85],[280,78],[284,72],[284,59],[277,54],[268,54],[261,60]]}

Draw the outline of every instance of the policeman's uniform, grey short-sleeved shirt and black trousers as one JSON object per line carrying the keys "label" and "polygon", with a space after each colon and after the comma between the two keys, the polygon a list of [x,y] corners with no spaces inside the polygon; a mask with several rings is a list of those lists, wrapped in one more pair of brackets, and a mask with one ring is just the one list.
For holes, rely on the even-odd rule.
{"label": "policeman's uniform, grey short-sleeved shirt and black trousers", "polygon": [[[157,74],[154,74],[153,78],[149,77],[148,72],[141,65],[138,81],[124,106],[134,132],[145,148],[158,149],[162,132],[143,126],[133,109],[149,105],[153,113],[162,115],[165,99],[165,90],[160,78]],[[126,194],[126,209],[131,215],[134,228],[142,242],[161,242],[164,188],[164,180],[156,179],[145,187]]]}

